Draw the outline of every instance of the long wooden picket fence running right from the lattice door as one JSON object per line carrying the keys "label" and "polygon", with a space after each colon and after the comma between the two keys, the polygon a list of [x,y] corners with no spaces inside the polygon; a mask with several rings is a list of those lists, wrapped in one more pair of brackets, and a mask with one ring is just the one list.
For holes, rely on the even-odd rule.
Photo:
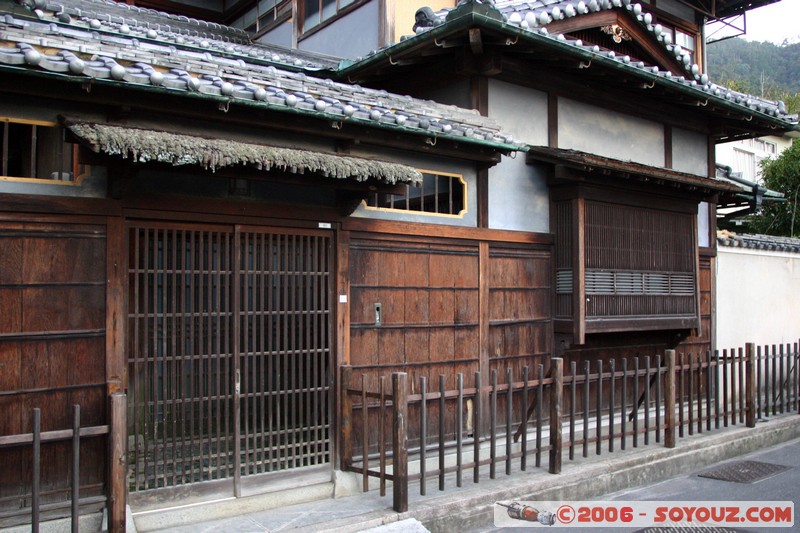
{"label": "long wooden picket fence running right from the lattice door", "polygon": [[[364,491],[377,478],[381,495],[392,482],[393,507],[408,509],[409,483],[428,480],[444,490],[448,478],[461,487],[464,476],[479,483],[498,469],[526,470],[529,460],[560,473],[562,459],[590,453],[621,453],[678,438],[743,424],[757,418],[800,412],[798,344],[619,360],[575,362],[565,373],[553,358],[542,365],[480,373],[470,383],[462,374],[408,382],[402,372],[382,377],[377,390],[343,367],[342,469],[362,476]],[[391,382],[391,386],[389,385]],[[411,388],[416,392],[412,393]],[[663,442],[663,444],[661,444]],[[564,453],[566,451],[566,453]]]}

